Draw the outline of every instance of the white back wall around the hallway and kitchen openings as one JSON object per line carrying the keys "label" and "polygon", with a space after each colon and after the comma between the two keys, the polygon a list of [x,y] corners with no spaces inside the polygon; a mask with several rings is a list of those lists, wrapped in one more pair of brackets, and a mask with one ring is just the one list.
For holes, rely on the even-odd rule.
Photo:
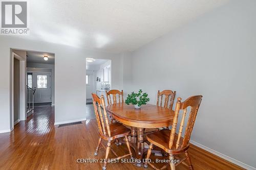
{"label": "white back wall around the hallway and kitchen openings", "polygon": [[[32,31],[32,30],[31,30]],[[55,54],[55,123],[86,118],[86,57],[112,60],[112,85],[120,87],[121,59],[117,54],[0,36],[0,133],[10,130],[10,48]]]}

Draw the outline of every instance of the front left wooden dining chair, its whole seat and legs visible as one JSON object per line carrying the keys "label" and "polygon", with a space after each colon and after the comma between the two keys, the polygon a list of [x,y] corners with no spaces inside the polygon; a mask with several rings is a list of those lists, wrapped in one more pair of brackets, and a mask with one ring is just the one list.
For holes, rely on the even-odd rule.
{"label": "front left wooden dining chair, its whole seat and legs visible", "polygon": [[[104,101],[103,95],[101,95],[101,97],[99,98],[95,93],[92,93],[92,98],[93,98],[93,106],[94,106],[94,111],[95,111],[95,115],[98,123],[99,135],[100,135],[98,140],[98,145],[94,152],[94,155],[96,156],[98,154],[100,144],[102,145],[103,148],[106,149],[106,154],[105,154],[105,159],[104,159],[104,164],[102,166],[102,169],[106,169],[106,160],[108,159],[110,151],[113,152],[113,154],[117,157],[115,159],[121,159],[127,156],[131,156],[131,158],[133,158],[131,148],[130,148],[130,142],[127,137],[131,134],[131,130],[126,128],[120,123],[113,123],[113,124],[109,123],[108,114],[106,113],[106,110],[105,110],[105,101]],[[124,137],[124,141],[127,145],[129,154],[118,156],[115,153],[115,151],[110,147],[111,142],[120,137]],[[101,142],[102,139],[108,142],[106,146]]]}

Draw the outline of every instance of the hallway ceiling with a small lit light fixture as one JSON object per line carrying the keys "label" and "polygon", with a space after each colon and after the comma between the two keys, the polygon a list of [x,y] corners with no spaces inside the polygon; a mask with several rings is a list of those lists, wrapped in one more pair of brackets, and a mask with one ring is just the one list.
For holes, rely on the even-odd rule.
{"label": "hallway ceiling with a small lit light fixture", "polygon": [[[44,60],[44,56],[48,56],[48,60]],[[42,63],[42,64],[54,64],[53,53],[41,53],[41,52],[27,52],[27,62],[29,63]]]}

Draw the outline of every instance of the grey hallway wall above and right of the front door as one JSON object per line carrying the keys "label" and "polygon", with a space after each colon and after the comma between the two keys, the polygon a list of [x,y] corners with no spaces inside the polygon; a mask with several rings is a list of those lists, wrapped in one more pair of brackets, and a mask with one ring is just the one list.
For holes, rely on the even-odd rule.
{"label": "grey hallway wall above and right of the front door", "polygon": [[54,64],[27,63],[28,71],[40,71],[38,68],[50,69],[52,73],[52,105],[55,105],[55,68]]}

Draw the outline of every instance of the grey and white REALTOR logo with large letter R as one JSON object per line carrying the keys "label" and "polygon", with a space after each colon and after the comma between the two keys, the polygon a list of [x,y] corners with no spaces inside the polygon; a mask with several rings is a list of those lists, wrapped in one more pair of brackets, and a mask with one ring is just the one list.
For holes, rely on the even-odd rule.
{"label": "grey and white REALTOR logo with large letter R", "polygon": [[26,1],[1,2],[1,34],[28,34],[28,6]]}

